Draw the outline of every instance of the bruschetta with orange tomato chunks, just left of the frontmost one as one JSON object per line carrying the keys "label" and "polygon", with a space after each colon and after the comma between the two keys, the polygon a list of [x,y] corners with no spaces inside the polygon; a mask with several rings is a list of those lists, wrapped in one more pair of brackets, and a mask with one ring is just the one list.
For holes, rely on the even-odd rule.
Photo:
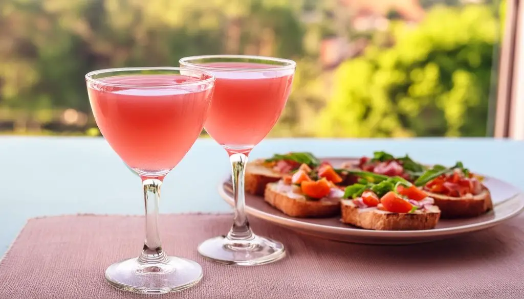
{"label": "bruschetta with orange tomato chunks, just left of the frontmost one", "polygon": [[343,179],[329,164],[313,171],[302,164],[292,175],[266,185],[264,200],[291,217],[331,217],[340,214]]}

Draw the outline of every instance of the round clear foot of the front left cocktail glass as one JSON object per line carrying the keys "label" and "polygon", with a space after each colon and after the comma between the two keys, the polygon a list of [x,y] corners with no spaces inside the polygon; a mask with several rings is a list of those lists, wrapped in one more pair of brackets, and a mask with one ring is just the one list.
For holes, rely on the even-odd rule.
{"label": "round clear foot of the front left cocktail glass", "polygon": [[138,258],[112,264],[105,279],[119,290],[168,293],[187,289],[202,279],[202,267],[192,260],[168,257],[166,262],[144,264]]}

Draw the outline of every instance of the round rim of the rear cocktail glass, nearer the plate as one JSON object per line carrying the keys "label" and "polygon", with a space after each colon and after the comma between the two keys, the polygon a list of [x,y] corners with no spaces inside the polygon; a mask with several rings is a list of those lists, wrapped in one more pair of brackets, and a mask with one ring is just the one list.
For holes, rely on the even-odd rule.
{"label": "round rim of the rear cocktail glass, nearer the plate", "polygon": [[[270,65],[268,68],[225,68],[225,67],[209,67],[206,65],[201,65],[198,63],[192,63],[191,60],[198,60],[198,59],[220,59],[220,58],[229,58],[229,59],[253,59],[253,60],[268,60],[268,61],[274,61],[274,62],[281,62],[286,63],[285,65]],[[268,57],[268,56],[256,56],[256,55],[233,55],[233,54],[216,54],[216,55],[199,55],[199,56],[188,56],[181,58],[178,61],[180,64],[183,64],[184,67],[187,67],[188,65],[194,68],[203,69],[206,71],[226,71],[226,72],[263,72],[263,71],[281,71],[281,70],[289,70],[294,69],[297,66],[297,62],[294,62],[290,59],[284,59],[284,58],[275,58],[275,57]]]}

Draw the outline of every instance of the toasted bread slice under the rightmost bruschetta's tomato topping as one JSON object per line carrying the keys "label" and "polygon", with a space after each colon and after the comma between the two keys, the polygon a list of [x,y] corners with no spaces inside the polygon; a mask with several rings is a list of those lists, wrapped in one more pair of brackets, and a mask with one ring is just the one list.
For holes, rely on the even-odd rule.
{"label": "toasted bread slice under the rightmost bruschetta's tomato topping", "polygon": [[478,195],[467,194],[462,197],[426,193],[435,200],[435,205],[440,208],[442,218],[476,217],[493,209],[491,194],[485,186]]}

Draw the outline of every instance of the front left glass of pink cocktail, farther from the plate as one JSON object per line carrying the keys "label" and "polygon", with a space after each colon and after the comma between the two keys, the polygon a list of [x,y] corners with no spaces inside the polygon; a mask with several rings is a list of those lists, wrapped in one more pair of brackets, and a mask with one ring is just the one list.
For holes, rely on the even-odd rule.
{"label": "front left glass of pink cocktail, farther from the plate", "polygon": [[189,151],[208,116],[215,78],[182,68],[95,71],[85,76],[102,135],[140,175],[146,205],[146,240],[138,258],[111,265],[106,280],[121,290],[166,293],[200,281],[194,261],[168,257],[158,234],[163,178]]}

